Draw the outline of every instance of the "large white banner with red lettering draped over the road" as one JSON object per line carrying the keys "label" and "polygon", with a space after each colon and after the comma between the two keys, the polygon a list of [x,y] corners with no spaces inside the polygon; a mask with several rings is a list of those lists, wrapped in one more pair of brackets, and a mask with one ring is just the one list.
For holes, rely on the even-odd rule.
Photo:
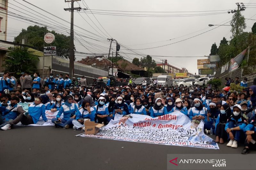
{"label": "large white banner with red lettering draped over the road", "polygon": [[78,137],[94,137],[152,144],[219,149],[215,141],[204,134],[204,122],[191,121],[188,116],[173,112],[151,118],[147,115],[115,115],[96,135],[84,133]]}

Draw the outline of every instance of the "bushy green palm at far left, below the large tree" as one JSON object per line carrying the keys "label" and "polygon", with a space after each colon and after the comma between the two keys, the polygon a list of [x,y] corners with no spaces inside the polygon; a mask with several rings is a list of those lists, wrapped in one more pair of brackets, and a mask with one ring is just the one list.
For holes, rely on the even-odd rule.
{"label": "bushy green palm at far left, below the large tree", "polygon": [[11,52],[6,55],[3,64],[7,71],[20,73],[36,69],[39,58],[33,55],[34,51],[28,51],[27,47],[10,47],[9,49]]}

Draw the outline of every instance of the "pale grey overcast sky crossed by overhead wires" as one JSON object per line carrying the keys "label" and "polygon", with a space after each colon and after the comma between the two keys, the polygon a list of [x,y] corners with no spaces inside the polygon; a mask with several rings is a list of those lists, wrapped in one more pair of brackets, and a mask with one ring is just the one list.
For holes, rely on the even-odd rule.
{"label": "pale grey overcast sky crossed by overhead wires", "polygon": [[[16,1],[16,2],[15,2]],[[27,0],[29,3],[32,3],[45,11],[48,11],[64,20],[70,22],[70,12],[64,11],[63,8],[69,8],[70,4],[65,3],[64,0]],[[22,6],[21,4],[25,5]],[[58,33],[69,34],[68,28],[70,24],[60,20],[40,9],[27,4],[22,0],[9,0],[9,11],[14,12],[28,18],[36,17],[38,23],[49,26],[49,30],[55,30]],[[230,40],[230,26],[220,26],[216,29],[213,29],[207,33],[214,26],[209,27],[208,24],[224,24],[231,20],[232,13],[227,13],[227,10],[233,10],[236,6],[236,1],[233,0],[129,0],[129,1],[120,1],[120,0],[84,0],[78,2],[82,8],[85,8],[85,3],[87,7],[92,10],[116,10],[116,11],[175,11],[175,13],[140,13],[140,12],[116,12],[116,11],[92,11],[94,16],[98,19],[99,22],[94,18],[92,14],[84,13],[80,11],[80,14],[84,19],[75,12],[74,14],[74,24],[78,27],[74,27],[76,38],[80,39],[80,42],[75,40],[76,50],[79,52],[85,53],[108,53],[109,42],[107,38],[110,38],[109,35],[116,41],[121,43],[120,55],[124,56],[128,60],[137,57],[140,58],[141,55],[133,54],[122,54],[123,53],[139,53],[146,55],[163,55],[163,56],[204,56],[210,54],[211,46],[214,42],[219,46],[220,40],[223,37],[226,37],[227,40]],[[79,4],[75,2],[74,7],[78,7]],[[256,0],[244,0],[243,3],[256,3]],[[14,6],[17,5],[18,7]],[[246,6],[248,4],[245,4]],[[256,7],[256,4],[250,4],[255,6],[247,7]],[[32,11],[28,8],[31,8],[35,11]],[[14,8],[14,9],[13,9]],[[256,8],[247,8],[242,12],[245,18],[256,19]],[[17,11],[19,10],[19,11]],[[24,11],[27,10],[27,11]],[[225,10],[225,11],[214,11],[214,10]],[[29,11],[29,12],[28,12]],[[178,11],[178,12],[176,12]],[[206,11],[206,12],[181,12],[181,11]],[[24,12],[24,13],[21,13]],[[30,13],[31,12],[31,13]],[[86,11],[89,12],[89,11]],[[206,14],[205,16],[190,16],[190,17],[128,17],[128,16],[113,16],[113,15],[100,15],[96,12],[109,12],[109,13],[127,13],[129,14],[150,14],[150,15],[191,15],[191,14]],[[216,12],[226,12],[221,14],[209,15],[210,13]],[[36,16],[36,15],[40,16]],[[41,14],[45,15],[42,16]],[[30,15],[30,16],[28,16]],[[114,14],[116,15],[116,14]],[[32,16],[32,17],[31,17]],[[10,16],[11,17],[11,16]],[[18,31],[22,28],[27,28],[29,25],[35,25],[29,21],[17,18],[13,19],[8,18],[8,41],[12,41],[14,36],[18,35]],[[23,18],[23,17],[22,17]],[[35,21],[34,18],[33,20]],[[94,23],[90,20],[95,23]],[[86,21],[91,25],[89,25]],[[27,23],[25,23],[25,22]],[[255,20],[247,20],[247,28],[245,31],[251,31],[251,27]],[[61,24],[60,24],[61,23]],[[63,25],[62,25],[63,24]],[[228,25],[229,23],[227,23]],[[52,27],[52,28],[50,28]],[[54,28],[53,28],[54,27]],[[98,28],[97,28],[98,27]],[[216,26],[215,26],[216,27]],[[58,29],[58,30],[57,30]],[[91,33],[86,32],[90,31]],[[92,34],[94,33],[94,34]],[[190,37],[194,38],[181,41]],[[87,35],[85,35],[87,34]],[[96,35],[95,35],[96,34]],[[109,34],[109,35],[108,35]],[[89,35],[89,36],[88,36]],[[83,37],[87,36],[87,37]],[[94,37],[94,38],[93,38]],[[97,39],[98,41],[92,40]],[[171,40],[170,40],[171,39]],[[169,40],[169,41],[168,41]],[[158,42],[162,41],[162,42]],[[181,41],[172,45],[167,45],[160,48],[152,48],[157,46],[162,46],[170,43]],[[154,42],[154,43],[152,43]],[[92,44],[93,43],[93,44]],[[147,44],[150,43],[150,44]],[[81,45],[82,44],[82,45]],[[142,45],[138,45],[142,44]],[[125,50],[123,45],[127,46],[130,49],[142,49],[142,48],[152,48],[144,50]],[[103,47],[101,47],[103,46]],[[58,48],[58,47],[57,47]],[[87,49],[86,49],[87,48]],[[115,45],[113,46],[115,51]],[[76,58],[80,60],[82,55],[76,55]],[[204,59],[206,57],[198,58],[174,58],[174,57],[153,57],[154,60],[161,62],[161,59],[167,59],[168,63],[176,67],[186,67],[189,72],[197,73],[196,69],[196,60]]]}

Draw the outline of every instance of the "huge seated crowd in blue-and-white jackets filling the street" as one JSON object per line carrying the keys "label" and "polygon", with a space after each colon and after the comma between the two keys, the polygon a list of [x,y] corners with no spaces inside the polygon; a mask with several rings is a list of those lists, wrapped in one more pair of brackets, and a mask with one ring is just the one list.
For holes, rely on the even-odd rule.
{"label": "huge seated crowd in blue-and-white jackets filling the street", "polygon": [[[203,121],[206,134],[215,135],[215,142],[237,148],[244,144],[243,154],[256,149],[256,85],[242,92],[227,88],[212,90],[209,87],[161,87],[158,85],[88,86],[84,78],[69,79],[66,74],[40,78],[34,73],[20,77],[17,87],[12,75],[4,72],[0,78],[0,128],[7,130],[21,122],[35,124],[39,118],[46,122],[45,110],[58,111],[52,119],[55,127],[83,129],[84,119],[108,124],[116,114],[148,115],[152,118],[181,112],[191,121]],[[108,82],[108,81],[107,81]],[[227,85],[229,80],[227,79]],[[30,103],[24,111],[19,103]],[[63,116],[63,118],[61,118]]]}

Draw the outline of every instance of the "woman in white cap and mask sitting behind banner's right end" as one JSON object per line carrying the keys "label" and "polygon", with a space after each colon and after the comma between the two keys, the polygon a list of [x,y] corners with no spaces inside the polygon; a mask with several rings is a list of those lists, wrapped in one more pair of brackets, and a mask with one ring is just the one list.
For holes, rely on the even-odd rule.
{"label": "woman in white cap and mask sitting behind banner's right end", "polygon": [[206,118],[206,109],[203,107],[201,100],[198,98],[194,99],[195,107],[192,107],[191,111],[189,112],[189,118],[191,120],[203,120]]}

